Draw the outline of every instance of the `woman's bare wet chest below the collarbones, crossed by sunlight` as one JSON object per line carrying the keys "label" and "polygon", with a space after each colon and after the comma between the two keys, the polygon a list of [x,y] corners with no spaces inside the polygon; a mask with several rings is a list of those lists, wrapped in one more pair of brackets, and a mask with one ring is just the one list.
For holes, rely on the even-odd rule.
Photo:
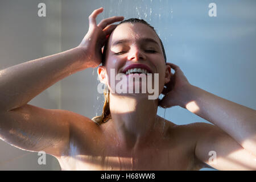
{"label": "woman's bare wet chest below the collarbones, crossed by sunlight", "polygon": [[193,156],[182,148],[152,148],[134,154],[102,152],[90,155],[62,156],[58,159],[63,170],[191,170]]}

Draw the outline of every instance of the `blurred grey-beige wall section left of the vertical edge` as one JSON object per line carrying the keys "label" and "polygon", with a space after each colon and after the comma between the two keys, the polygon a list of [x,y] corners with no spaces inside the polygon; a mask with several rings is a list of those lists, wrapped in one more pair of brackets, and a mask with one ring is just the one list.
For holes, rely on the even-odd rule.
{"label": "blurred grey-beige wall section left of the vertical edge", "polygon": [[[46,17],[38,16],[38,4],[47,5]],[[61,1],[0,1],[0,69],[61,51]],[[31,105],[60,107],[60,82],[33,100]],[[0,118],[1,119],[1,118]],[[38,164],[37,152],[27,152],[0,140],[0,170],[60,169],[51,155]]]}

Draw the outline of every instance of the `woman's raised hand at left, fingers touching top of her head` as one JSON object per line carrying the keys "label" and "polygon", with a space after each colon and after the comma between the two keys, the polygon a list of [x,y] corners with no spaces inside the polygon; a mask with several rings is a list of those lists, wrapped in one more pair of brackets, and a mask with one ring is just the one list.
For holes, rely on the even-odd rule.
{"label": "woman's raised hand at left, fingers touching top of her head", "polygon": [[96,17],[102,13],[103,7],[94,10],[89,16],[89,30],[78,47],[82,48],[85,55],[86,67],[96,68],[102,61],[102,47],[106,39],[117,27],[114,22],[119,22],[124,19],[123,16],[112,16],[110,18],[102,19],[100,23],[96,24]]}

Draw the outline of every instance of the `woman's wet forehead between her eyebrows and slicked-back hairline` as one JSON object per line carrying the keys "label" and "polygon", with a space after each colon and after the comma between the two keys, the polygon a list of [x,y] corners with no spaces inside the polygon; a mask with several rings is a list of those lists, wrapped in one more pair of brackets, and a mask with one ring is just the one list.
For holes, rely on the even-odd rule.
{"label": "woman's wet forehead between her eyebrows and slicked-back hairline", "polygon": [[[154,40],[160,46],[160,41],[155,31],[143,23],[122,23],[112,32],[109,38],[109,46],[114,46],[119,40],[138,42]],[[150,41],[149,41],[150,42]],[[153,41],[151,41],[153,42]]]}

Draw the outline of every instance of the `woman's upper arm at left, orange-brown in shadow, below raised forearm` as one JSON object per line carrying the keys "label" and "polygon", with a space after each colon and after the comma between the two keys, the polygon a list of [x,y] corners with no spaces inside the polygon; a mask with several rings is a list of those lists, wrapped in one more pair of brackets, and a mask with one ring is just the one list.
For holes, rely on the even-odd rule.
{"label": "woman's upper arm at left, orange-brown in shadow, below raised forearm", "polygon": [[24,105],[0,114],[0,138],[28,151],[59,156],[68,147],[71,111]]}

